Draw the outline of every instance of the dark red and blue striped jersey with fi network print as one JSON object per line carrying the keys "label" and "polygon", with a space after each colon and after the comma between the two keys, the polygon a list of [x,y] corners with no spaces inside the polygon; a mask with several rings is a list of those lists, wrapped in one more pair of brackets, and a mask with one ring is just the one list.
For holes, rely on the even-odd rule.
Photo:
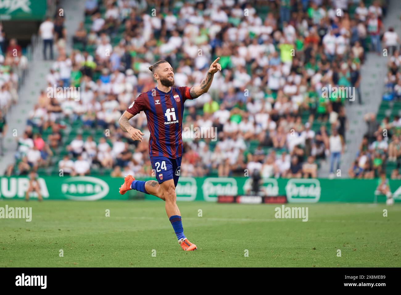
{"label": "dark red and blue striped jersey with fi network print", "polygon": [[134,116],[141,111],[146,114],[150,131],[150,157],[181,157],[182,115],[187,99],[192,99],[187,86],[171,87],[167,93],[156,87],[140,94],[128,107],[127,112]]}

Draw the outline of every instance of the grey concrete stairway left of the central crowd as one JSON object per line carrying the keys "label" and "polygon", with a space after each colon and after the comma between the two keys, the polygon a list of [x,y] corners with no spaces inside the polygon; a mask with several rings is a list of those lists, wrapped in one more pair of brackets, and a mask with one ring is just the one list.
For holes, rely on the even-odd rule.
{"label": "grey concrete stairway left of the central crowd", "polygon": [[[67,31],[66,52],[71,53],[72,36],[83,21],[85,2],[80,0],[63,0],[60,8],[63,8],[65,27]],[[53,46],[53,53],[57,59],[57,50]],[[0,157],[0,175],[4,175],[8,165],[15,163],[18,137],[22,136],[26,128],[26,120],[30,110],[33,110],[41,90],[46,90],[46,75],[49,73],[53,61],[43,60],[43,42],[39,40],[33,47],[32,61],[28,65],[28,74],[24,85],[20,88],[19,100],[6,114],[8,129],[4,138],[4,156]]]}

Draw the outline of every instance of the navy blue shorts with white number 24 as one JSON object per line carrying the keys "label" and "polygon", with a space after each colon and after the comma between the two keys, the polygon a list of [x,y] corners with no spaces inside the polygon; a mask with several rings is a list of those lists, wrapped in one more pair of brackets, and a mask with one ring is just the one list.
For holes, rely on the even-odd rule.
{"label": "navy blue shorts with white number 24", "polygon": [[161,156],[150,157],[150,163],[158,183],[174,179],[174,185],[177,186],[178,178],[180,178],[181,157],[175,159]]}

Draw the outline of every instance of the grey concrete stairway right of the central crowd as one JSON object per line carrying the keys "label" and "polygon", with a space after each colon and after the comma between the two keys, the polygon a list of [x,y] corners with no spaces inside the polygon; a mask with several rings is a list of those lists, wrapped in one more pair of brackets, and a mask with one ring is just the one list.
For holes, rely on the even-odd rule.
{"label": "grey concrete stairway right of the central crowd", "polygon": [[[392,0],[390,2],[387,16],[383,24],[385,31],[387,31],[390,26],[393,26],[394,30],[401,36],[399,18],[401,15],[401,5],[399,4],[399,0]],[[349,177],[348,169],[351,167],[351,163],[355,161],[360,142],[362,141],[363,135],[367,132],[367,124],[363,117],[365,114],[371,112],[377,114],[385,88],[384,77],[387,73],[389,57],[384,57],[383,55],[379,56],[376,53],[367,53],[366,57],[365,64],[360,70],[362,74],[360,90],[363,104],[359,105],[358,98],[355,98],[352,104],[347,103],[345,107],[348,130],[346,130],[345,134],[346,151],[341,158],[341,177]],[[330,159],[327,159],[326,161],[322,161],[318,176],[325,178],[329,175],[329,172]]]}

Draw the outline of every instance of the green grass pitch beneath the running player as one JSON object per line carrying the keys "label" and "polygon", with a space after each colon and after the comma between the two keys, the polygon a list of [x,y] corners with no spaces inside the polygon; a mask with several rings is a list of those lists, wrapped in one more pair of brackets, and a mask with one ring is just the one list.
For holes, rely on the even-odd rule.
{"label": "green grass pitch beneath the running player", "polygon": [[281,205],[179,202],[192,252],[178,245],[163,201],[6,204],[31,206],[32,221],[0,219],[0,267],[401,266],[400,204],[286,204],[309,208],[302,222],[275,219]]}

